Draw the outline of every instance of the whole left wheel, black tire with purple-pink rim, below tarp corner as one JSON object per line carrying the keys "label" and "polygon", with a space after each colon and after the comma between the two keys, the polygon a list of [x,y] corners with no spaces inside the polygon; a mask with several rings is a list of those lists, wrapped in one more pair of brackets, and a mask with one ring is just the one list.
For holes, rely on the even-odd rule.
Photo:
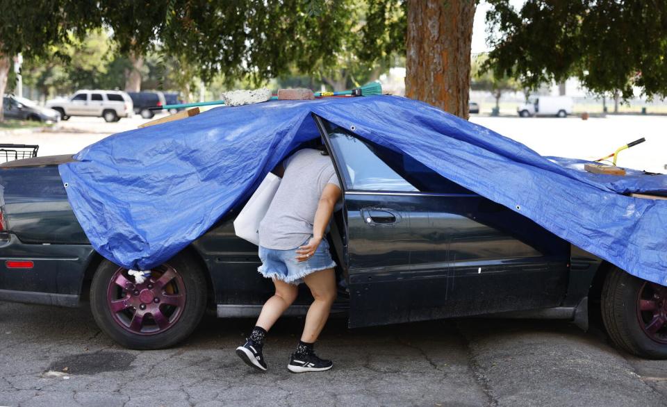
{"label": "whole left wheel, black tire with purple-pink rim, below tarp corner", "polygon": [[142,284],[135,284],[126,269],[103,260],[90,285],[95,322],[129,349],[163,349],[186,339],[201,321],[206,300],[204,272],[186,253],[154,268]]}

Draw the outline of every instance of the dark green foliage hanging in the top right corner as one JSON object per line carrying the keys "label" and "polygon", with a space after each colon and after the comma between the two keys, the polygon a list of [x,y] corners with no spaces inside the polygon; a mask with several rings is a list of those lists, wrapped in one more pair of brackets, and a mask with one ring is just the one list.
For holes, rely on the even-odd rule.
{"label": "dark green foliage hanging in the top right corner", "polygon": [[575,76],[597,93],[667,96],[667,2],[488,0],[487,68],[528,88]]}

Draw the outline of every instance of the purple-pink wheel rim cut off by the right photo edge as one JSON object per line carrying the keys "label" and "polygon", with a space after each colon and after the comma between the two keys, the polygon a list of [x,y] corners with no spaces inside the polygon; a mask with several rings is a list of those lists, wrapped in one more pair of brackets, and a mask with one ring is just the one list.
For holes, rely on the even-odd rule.
{"label": "purple-pink wheel rim cut off by the right photo edge", "polygon": [[642,331],[655,342],[667,344],[667,288],[646,281],[637,295],[637,318]]}

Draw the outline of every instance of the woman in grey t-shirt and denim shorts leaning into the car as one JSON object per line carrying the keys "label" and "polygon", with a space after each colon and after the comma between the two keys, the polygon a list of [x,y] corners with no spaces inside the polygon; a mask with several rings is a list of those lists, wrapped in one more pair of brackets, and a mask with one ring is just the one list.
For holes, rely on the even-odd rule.
{"label": "woman in grey t-shirt and denim shorts leaning into the car", "polygon": [[306,324],[290,358],[290,372],[321,372],[334,366],[318,358],[313,345],[336,299],[336,263],[324,233],[340,198],[340,183],[326,151],[302,149],[283,160],[280,186],[259,227],[258,268],[272,279],[276,293],[266,301],[247,342],[236,354],[249,366],[266,370],[262,348],[271,326],[297,298],[299,283],[313,294]]}

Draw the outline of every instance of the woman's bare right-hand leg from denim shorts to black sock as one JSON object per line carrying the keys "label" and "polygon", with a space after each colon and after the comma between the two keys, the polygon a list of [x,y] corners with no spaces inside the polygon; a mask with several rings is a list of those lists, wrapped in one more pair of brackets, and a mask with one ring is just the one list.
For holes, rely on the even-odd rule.
{"label": "woman's bare right-hand leg from denim shorts to black sock", "polygon": [[336,299],[336,274],[334,269],[325,269],[309,274],[304,278],[304,282],[311,289],[315,301],[308,308],[301,340],[302,342],[313,343],[318,340],[324,324],[327,323],[331,305],[334,304]]}

